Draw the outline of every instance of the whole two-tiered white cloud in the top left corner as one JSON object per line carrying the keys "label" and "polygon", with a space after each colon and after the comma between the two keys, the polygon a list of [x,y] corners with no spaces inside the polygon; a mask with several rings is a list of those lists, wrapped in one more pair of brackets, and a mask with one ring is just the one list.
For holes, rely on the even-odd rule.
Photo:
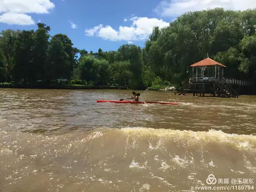
{"label": "whole two-tiered white cloud in the top left corner", "polygon": [[0,22],[32,25],[34,21],[28,14],[48,14],[53,8],[50,0],[0,0]]}

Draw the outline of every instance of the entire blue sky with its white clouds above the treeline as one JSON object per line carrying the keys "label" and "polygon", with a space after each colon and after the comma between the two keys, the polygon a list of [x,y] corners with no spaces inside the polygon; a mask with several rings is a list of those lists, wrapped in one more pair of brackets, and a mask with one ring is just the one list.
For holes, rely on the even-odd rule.
{"label": "entire blue sky with its white clouds above the treeline", "polygon": [[254,0],[0,0],[0,30],[36,30],[41,22],[50,34],[64,33],[79,49],[117,50],[122,44],[143,47],[153,26],[168,26],[186,11],[223,7],[255,8]]}

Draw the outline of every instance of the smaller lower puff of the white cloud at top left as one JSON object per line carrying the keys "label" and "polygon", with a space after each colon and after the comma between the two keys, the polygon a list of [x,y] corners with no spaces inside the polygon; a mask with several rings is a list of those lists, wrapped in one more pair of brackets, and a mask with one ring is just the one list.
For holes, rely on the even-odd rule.
{"label": "smaller lower puff of the white cloud at top left", "polygon": [[31,16],[20,13],[4,13],[0,15],[0,23],[16,25],[34,25]]}

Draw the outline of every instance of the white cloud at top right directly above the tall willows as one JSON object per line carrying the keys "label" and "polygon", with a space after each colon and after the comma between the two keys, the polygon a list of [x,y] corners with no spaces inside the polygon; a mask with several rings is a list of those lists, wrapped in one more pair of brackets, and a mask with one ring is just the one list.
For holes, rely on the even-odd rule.
{"label": "white cloud at top right directly above the tall willows", "polygon": [[222,7],[225,10],[246,10],[256,7],[255,0],[164,0],[154,9],[162,17],[179,16],[184,12]]}

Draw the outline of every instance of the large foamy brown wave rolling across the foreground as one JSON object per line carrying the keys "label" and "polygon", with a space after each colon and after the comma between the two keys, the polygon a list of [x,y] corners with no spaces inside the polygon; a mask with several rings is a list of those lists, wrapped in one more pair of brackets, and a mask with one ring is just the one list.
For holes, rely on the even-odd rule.
{"label": "large foamy brown wave rolling across the foreground", "polygon": [[31,182],[39,188],[38,178],[50,183],[43,186],[44,191],[58,191],[67,183],[76,191],[93,186],[106,192],[173,191],[184,187],[184,181],[187,186],[203,185],[210,173],[220,178],[256,174],[253,135],[142,127],[57,136],[0,134],[2,176],[6,178],[2,186],[11,191],[18,187],[27,191]]}

